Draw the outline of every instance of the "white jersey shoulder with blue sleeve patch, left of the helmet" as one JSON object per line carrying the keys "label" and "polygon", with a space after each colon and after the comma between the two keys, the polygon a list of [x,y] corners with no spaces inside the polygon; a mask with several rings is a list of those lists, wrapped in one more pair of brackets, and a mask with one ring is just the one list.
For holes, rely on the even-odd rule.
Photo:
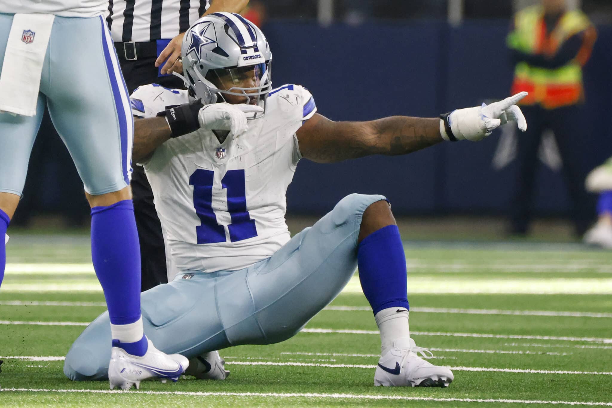
{"label": "white jersey shoulder with blue sleeve patch, left of the helmet", "polygon": [[137,87],[130,95],[132,114],[138,117],[154,117],[166,110],[166,106],[182,105],[189,102],[187,91],[170,89],[158,84]]}

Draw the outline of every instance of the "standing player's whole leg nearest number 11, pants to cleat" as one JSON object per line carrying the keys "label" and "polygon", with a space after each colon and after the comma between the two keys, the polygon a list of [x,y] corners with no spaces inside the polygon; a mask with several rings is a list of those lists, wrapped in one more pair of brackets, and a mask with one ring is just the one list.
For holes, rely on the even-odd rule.
{"label": "standing player's whole leg nearest number 11, pants to cleat", "polygon": [[[119,367],[138,358],[149,361],[159,352],[144,336],[140,314],[140,251],[128,187],[133,121],[127,90],[102,17],[56,17],[50,47],[51,64],[72,61],[75,73],[51,70],[48,105],[91,205],[92,261],[108,305],[113,340],[111,388],[138,387],[140,374],[132,378],[128,370],[125,376]],[[157,372],[141,374],[162,372],[176,379],[177,369],[187,367],[184,358],[160,354],[158,361]]]}

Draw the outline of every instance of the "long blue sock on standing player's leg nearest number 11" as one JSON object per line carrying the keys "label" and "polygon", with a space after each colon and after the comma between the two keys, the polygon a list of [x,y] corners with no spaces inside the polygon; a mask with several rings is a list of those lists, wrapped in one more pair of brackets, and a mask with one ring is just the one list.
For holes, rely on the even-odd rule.
{"label": "long blue sock on standing player's leg nearest number 11", "polygon": [[[111,324],[127,325],[138,321],[140,247],[132,200],[91,209],[91,258],[102,284]],[[130,354],[144,355],[146,352],[146,339],[125,344],[134,345],[135,350]]]}

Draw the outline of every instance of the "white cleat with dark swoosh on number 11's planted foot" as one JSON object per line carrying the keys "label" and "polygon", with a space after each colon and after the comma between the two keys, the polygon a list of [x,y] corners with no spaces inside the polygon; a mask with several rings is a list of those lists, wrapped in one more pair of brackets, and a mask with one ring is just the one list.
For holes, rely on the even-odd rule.
{"label": "white cleat with dark swoosh on number 11's planted foot", "polygon": [[[378,360],[374,385],[384,387],[448,387],[454,379],[453,372],[435,366],[417,355],[433,357],[423,347],[417,347],[411,338],[395,340],[392,349]],[[428,354],[427,354],[428,353]]]}

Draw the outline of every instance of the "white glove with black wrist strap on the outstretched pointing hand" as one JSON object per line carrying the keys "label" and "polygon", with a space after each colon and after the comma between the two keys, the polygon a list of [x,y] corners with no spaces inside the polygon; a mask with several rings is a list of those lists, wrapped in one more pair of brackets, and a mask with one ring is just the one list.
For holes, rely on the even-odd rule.
{"label": "white glove with black wrist strap on the outstretched pointing hand", "polygon": [[499,102],[474,108],[455,109],[440,116],[440,134],[444,140],[478,141],[491,134],[494,128],[517,121],[518,128],[527,130],[527,121],[521,109],[515,105],[526,97],[527,92],[519,92]]}

